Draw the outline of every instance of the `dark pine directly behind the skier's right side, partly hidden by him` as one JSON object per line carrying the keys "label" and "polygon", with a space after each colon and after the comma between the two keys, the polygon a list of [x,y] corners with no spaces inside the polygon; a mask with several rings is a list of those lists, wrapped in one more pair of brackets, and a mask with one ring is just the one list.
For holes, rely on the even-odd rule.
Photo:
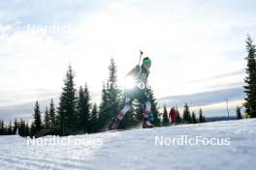
{"label": "dark pine directly behind the skier's right side, partly hidden by him", "polygon": [[151,121],[151,123],[156,126],[156,127],[160,127],[160,118],[159,118],[159,108],[157,107],[157,102],[156,102],[156,99],[154,97],[154,92],[151,88],[147,88],[146,89],[146,94],[147,94],[147,97],[151,103],[151,113],[152,116],[153,116],[153,121]]}

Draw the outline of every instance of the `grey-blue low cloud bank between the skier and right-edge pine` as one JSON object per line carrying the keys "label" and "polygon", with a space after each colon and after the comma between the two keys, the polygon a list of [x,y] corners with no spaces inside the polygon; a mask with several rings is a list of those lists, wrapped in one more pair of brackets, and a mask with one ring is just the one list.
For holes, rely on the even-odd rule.
{"label": "grey-blue low cloud bank between the skier and right-edge pine", "polygon": [[158,105],[160,108],[163,108],[164,104],[166,104],[167,108],[177,106],[182,115],[184,103],[187,102],[190,110],[195,111],[196,114],[202,108],[204,115],[207,117],[218,117],[227,116],[227,103],[225,99],[229,99],[230,116],[236,116],[237,106],[242,106],[244,102],[243,89],[231,88],[186,96],[166,97],[158,99]]}

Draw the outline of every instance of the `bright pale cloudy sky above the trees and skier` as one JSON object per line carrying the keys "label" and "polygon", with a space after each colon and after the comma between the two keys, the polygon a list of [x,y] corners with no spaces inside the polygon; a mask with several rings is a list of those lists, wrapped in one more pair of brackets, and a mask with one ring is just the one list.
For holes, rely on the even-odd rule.
{"label": "bright pale cloudy sky above the trees and skier", "polygon": [[243,102],[245,40],[256,38],[253,0],[0,1],[0,118],[30,119],[39,100],[58,103],[72,65],[100,101],[113,58],[121,80],[139,60],[159,107],[200,107],[207,116],[235,113]]}

